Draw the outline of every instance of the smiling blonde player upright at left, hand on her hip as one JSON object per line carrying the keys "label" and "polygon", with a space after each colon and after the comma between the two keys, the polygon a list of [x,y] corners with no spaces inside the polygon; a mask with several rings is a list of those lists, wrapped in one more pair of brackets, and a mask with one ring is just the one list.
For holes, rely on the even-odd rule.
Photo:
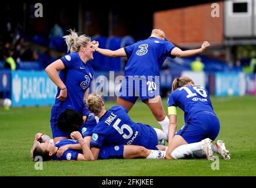
{"label": "smiling blonde player upright at left, hand on her hip", "polygon": [[[59,129],[57,120],[65,109],[75,109],[82,113],[84,100],[88,95],[94,72],[87,61],[94,59],[91,39],[72,30],[64,36],[68,46],[68,55],[46,67],[49,78],[58,86],[55,103],[51,110],[51,129],[54,143],[67,139],[69,133]],[[59,71],[60,70],[60,71]],[[58,75],[59,71],[59,75]]]}

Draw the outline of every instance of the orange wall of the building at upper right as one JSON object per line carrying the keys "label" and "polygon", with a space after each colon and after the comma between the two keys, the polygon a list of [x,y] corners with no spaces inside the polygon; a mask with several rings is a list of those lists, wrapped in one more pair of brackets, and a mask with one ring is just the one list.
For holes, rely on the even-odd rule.
{"label": "orange wall of the building at upper right", "polygon": [[198,46],[202,41],[221,45],[223,34],[223,2],[220,1],[220,17],[212,18],[211,4],[189,6],[154,14],[154,28],[161,28],[168,40],[178,46]]}

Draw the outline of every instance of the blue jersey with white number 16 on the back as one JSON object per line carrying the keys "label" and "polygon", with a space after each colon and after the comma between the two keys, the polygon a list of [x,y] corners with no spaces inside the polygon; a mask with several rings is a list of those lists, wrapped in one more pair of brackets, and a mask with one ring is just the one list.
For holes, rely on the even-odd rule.
{"label": "blue jersey with white number 16 on the back", "polygon": [[194,113],[207,111],[214,113],[211,100],[206,89],[201,86],[183,86],[169,95],[168,106],[178,106],[184,111],[184,120]]}

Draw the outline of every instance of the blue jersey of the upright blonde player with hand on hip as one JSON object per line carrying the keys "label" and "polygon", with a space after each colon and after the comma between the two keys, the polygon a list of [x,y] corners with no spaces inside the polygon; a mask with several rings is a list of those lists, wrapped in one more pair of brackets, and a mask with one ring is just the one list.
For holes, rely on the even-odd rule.
{"label": "blue jersey of the upright blonde player with hand on hip", "polygon": [[[69,53],[61,58],[65,65],[65,69],[59,71],[59,77],[67,87],[68,96],[64,102],[55,99],[54,106],[61,106],[68,109],[77,110],[83,113],[84,109],[84,93],[90,87],[94,72],[89,66],[82,62],[78,53]],[[57,96],[60,89],[58,88]]]}

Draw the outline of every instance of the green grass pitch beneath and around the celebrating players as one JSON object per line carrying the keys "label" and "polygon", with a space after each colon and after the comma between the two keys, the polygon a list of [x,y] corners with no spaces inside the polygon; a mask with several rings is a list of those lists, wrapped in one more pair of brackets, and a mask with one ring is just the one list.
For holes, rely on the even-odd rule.
{"label": "green grass pitch beneath and around the celebrating players", "polygon": [[[44,162],[35,170],[29,151],[36,132],[51,135],[51,107],[0,109],[0,176],[255,176],[256,97],[211,97],[220,118],[221,131],[231,160],[220,158],[220,169],[212,170],[206,159],[186,160],[95,160],[93,162]],[[166,100],[163,104],[166,107]],[[107,102],[109,108],[115,102]],[[159,127],[144,103],[137,102],[129,115],[135,122]],[[178,111],[178,128],[184,123]]]}

